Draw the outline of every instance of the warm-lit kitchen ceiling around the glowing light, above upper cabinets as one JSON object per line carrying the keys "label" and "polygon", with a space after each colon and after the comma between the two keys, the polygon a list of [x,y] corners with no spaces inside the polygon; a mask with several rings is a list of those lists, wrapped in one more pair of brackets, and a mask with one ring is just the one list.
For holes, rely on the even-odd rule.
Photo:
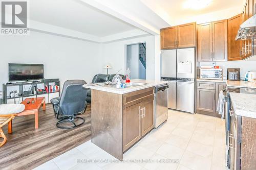
{"label": "warm-lit kitchen ceiling around the glowing light, above upper cabinets", "polygon": [[[196,18],[196,16],[226,10],[235,7],[242,8],[246,0],[212,0],[207,7],[202,9],[185,8],[187,1],[193,0],[141,0],[146,6],[151,8],[160,17],[164,18],[169,25],[173,21],[182,18]],[[197,0],[194,0],[197,1]],[[206,1],[206,0],[202,0]],[[239,13],[238,12],[238,13]]]}

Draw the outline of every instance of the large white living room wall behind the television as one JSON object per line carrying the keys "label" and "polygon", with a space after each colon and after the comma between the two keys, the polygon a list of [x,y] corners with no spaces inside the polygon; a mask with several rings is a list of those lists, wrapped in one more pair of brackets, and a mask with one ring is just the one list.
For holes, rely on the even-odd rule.
{"label": "large white living room wall behind the television", "polygon": [[59,78],[91,82],[101,71],[100,44],[30,32],[28,36],[1,36],[0,91],[8,82],[8,63],[44,64],[45,78]]}

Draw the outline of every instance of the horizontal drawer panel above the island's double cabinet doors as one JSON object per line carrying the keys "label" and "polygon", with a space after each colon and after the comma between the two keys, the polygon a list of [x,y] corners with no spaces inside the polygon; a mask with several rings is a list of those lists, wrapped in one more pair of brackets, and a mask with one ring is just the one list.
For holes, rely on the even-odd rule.
{"label": "horizontal drawer panel above the island's double cabinet doors", "polygon": [[154,99],[154,87],[123,94],[123,108],[142,102],[145,97]]}

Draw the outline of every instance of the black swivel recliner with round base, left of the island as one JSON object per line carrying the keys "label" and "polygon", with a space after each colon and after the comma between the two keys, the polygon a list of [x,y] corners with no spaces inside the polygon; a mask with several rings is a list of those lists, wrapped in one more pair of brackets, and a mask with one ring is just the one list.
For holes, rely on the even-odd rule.
{"label": "black swivel recliner with round base, left of the island", "polygon": [[[87,88],[83,88],[83,84],[86,84],[86,81],[67,80],[63,85],[61,96],[51,100],[54,115],[60,119],[56,124],[58,128],[70,129],[84,123],[84,119],[77,116],[83,114],[87,107]],[[71,123],[71,126],[66,126],[68,123]]]}

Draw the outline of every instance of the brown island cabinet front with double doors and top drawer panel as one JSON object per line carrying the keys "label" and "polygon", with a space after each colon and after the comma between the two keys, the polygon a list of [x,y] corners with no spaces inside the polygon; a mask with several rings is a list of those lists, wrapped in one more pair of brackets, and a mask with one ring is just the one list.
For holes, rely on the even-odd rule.
{"label": "brown island cabinet front with double doors and top drawer panel", "polygon": [[123,98],[123,152],[154,128],[154,90],[148,88]]}

